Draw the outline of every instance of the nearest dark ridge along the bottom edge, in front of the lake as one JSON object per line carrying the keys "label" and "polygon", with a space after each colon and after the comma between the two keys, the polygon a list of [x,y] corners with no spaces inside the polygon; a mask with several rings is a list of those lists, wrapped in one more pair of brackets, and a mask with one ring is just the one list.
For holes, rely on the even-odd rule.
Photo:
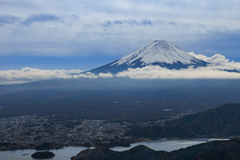
{"label": "nearest dark ridge along the bottom edge, in front of the lake", "polygon": [[239,160],[240,140],[212,141],[172,152],[154,151],[139,145],[124,152],[108,149],[87,149],[71,160]]}

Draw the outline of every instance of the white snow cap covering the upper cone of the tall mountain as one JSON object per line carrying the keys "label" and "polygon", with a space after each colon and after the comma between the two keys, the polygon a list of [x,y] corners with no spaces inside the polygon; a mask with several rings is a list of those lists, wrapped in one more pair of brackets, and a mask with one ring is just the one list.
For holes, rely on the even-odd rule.
{"label": "white snow cap covering the upper cone of the tall mountain", "polygon": [[111,66],[121,64],[133,66],[134,61],[137,60],[140,60],[142,65],[148,65],[151,63],[174,64],[178,62],[191,64],[194,59],[195,58],[193,56],[165,40],[155,40],[134,53],[122,57]]}

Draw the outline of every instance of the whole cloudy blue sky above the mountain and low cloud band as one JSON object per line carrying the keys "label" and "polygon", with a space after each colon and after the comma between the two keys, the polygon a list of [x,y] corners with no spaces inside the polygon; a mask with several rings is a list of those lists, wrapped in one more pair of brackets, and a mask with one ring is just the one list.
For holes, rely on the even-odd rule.
{"label": "whole cloudy blue sky above the mountain and low cloud band", "polygon": [[0,70],[87,70],[155,39],[240,61],[238,0],[0,0]]}

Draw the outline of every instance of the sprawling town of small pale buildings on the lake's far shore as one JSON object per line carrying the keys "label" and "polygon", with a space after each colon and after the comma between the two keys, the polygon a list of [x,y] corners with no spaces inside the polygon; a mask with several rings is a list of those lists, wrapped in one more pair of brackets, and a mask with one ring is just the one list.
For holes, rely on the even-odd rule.
{"label": "sprawling town of small pale buildings on the lake's far shore", "polygon": [[105,120],[61,120],[56,116],[19,116],[0,119],[0,150],[34,149],[43,143],[54,148],[93,146],[95,141],[124,139],[129,123]]}

